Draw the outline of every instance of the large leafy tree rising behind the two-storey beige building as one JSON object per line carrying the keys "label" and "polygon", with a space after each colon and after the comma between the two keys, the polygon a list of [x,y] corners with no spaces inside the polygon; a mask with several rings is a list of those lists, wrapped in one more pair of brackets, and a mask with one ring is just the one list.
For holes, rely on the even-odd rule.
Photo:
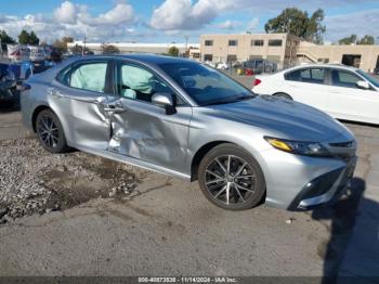
{"label": "large leafy tree rising behind the two-storey beige building", "polygon": [[323,26],[324,11],[316,10],[311,16],[306,11],[297,8],[285,9],[277,17],[271,18],[264,25],[266,33],[286,33],[303,38],[315,43],[323,42],[323,34],[326,27]]}

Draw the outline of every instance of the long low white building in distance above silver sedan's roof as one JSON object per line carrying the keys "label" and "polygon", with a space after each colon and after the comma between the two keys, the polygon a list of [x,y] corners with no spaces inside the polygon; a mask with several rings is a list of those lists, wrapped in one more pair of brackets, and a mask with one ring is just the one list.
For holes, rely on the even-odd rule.
{"label": "long low white building in distance above silver sedan's roof", "polygon": [[[102,44],[99,42],[86,42],[86,48],[93,51],[95,54],[102,52]],[[198,43],[141,43],[141,42],[115,42],[106,43],[117,47],[121,53],[155,53],[164,54],[167,53],[169,48],[177,47],[180,53],[185,53],[187,49],[196,50],[199,49]],[[75,46],[84,46],[83,41],[74,41],[73,43],[67,43],[67,48],[71,49]],[[194,52],[194,51],[193,51]]]}

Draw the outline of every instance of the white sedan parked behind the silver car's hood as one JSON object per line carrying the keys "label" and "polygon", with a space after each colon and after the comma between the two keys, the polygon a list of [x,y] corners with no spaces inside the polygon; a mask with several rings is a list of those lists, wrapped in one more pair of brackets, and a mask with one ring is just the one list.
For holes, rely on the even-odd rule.
{"label": "white sedan parked behind the silver car's hood", "polygon": [[379,80],[358,68],[302,65],[257,76],[252,90],[312,105],[338,119],[379,125]]}

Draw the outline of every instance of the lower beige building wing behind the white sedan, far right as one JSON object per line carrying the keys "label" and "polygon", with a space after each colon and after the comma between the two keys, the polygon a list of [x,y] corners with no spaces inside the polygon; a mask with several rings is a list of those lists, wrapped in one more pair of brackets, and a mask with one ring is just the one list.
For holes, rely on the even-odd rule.
{"label": "lower beige building wing behind the white sedan, far right", "polygon": [[317,46],[302,41],[297,56],[299,63],[337,63],[369,73],[379,67],[379,46]]}

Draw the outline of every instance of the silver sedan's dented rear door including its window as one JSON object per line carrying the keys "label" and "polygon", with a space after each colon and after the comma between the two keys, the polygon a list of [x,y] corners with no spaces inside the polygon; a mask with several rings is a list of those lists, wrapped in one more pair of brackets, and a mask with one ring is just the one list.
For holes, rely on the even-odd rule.
{"label": "silver sedan's dented rear door including its window", "polygon": [[109,68],[106,60],[73,64],[58,74],[58,83],[48,90],[51,101],[62,112],[62,122],[69,126],[66,138],[76,147],[106,150],[108,146]]}

